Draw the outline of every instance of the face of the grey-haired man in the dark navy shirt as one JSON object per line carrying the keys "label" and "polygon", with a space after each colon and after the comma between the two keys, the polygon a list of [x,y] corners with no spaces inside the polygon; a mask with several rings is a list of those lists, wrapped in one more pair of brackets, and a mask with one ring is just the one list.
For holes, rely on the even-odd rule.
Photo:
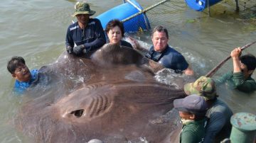
{"label": "face of the grey-haired man in the dark navy shirt", "polygon": [[166,36],[166,33],[164,32],[154,32],[153,36],[152,36],[152,42],[154,45],[154,50],[156,52],[162,52],[165,50],[166,46],[167,46],[167,42],[168,42],[168,38]]}

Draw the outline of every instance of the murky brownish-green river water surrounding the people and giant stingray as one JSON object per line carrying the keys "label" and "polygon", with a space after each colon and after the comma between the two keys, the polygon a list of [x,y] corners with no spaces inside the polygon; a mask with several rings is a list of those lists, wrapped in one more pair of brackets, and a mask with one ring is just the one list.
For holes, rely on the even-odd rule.
{"label": "murky brownish-green river water surrounding the people and giant stingray", "polygon": [[[122,4],[121,0],[89,0],[96,15]],[[140,0],[144,7],[156,1]],[[21,56],[30,69],[50,64],[65,50],[65,33],[73,19],[75,1],[65,0],[9,0],[0,5],[0,142],[28,142],[16,131],[13,119],[21,105],[22,97],[11,94],[14,79],[6,69],[12,56]],[[256,8],[252,8],[256,11]],[[159,10],[160,11],[160,10]],[[192,65],[196,76],[205,75],[218,62],[230,55],[234,47],[256,40],[256,13],[235,13],[234,6],[225,4],[210,8],[211,17],[204,12],[193,11],[182,0],[171,1],[163,13],[151,13],[150,21],[166,25],[169,45],[181,52]],[[225,11],[225,12],[224,12]],[[161,18],[164,16],[164,18]],[[254,16],[254,17],[253,17]],[[253,21],[254,20],[254,21]],[[152,26],[154,26],[154,23]],[[149,48],[149,32],[131,34],[144,47]],[[243,53],[256,55],[256,45]],[[221,76],[233,69],[228,61],[215,74]],[[256,79],[256,74],[252,75]],[[168,73],[161,79],[168,81]],[[218,89],[220,98],[234,113],[256,114],[256,92],[245,94],[225,86]]]}

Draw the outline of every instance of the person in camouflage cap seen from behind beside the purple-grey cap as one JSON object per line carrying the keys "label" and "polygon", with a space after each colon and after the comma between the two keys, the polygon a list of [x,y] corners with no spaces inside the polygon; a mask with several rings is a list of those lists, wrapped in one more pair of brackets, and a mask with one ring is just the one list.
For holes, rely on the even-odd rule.
{"label": "person in camouflage cap seen from behind beside the purple-grey cap", "polygon": [[195,82],[185,84],[184,91],[187,95],[197,94],[203,96],[208,104],[206,117],[209,120],[204,142],[214,142],[217,135],[225,134],[223,139],[229,137],[232,127],[230,125],[230,117],[233,115],[233,112],[226,103],[217,98],[215,82],[206,76],[201,76]]}

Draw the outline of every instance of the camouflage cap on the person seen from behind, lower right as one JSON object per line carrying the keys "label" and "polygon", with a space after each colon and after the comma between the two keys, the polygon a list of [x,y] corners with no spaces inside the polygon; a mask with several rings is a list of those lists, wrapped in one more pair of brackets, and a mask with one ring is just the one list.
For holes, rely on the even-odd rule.
{"label": "camouflage cap on the person seen from behind, lower right", "polygon": [[201,76],[193,83],[185,84],[184,91],[187,95],[198,94],[203,96],[206,101],[218,97],[214,81],[206,76]]}

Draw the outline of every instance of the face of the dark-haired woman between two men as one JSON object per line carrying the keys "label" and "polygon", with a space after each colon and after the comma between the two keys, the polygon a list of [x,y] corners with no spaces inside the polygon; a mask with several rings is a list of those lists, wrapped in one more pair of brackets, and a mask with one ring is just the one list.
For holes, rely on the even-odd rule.
{"label": "face of the dark-haired woman between two men", "polygon": [[111,28],[107,33],[107,37],[110,39],[110,44],[119,44],[120,40],[122,39],[122,32],[119,26],[114,26],[114,28]]}

